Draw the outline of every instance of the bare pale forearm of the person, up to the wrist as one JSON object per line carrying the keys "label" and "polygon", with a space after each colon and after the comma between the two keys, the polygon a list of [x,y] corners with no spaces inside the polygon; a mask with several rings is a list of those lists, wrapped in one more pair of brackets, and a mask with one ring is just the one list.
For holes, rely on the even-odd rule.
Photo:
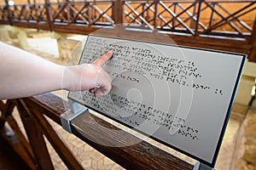
{"label": "bare pale forearm of the person, up to the wrist", "polygon": [[61,89],[64,66],[3,42],[0,42],[0,59],[0,99],[14,99]]}

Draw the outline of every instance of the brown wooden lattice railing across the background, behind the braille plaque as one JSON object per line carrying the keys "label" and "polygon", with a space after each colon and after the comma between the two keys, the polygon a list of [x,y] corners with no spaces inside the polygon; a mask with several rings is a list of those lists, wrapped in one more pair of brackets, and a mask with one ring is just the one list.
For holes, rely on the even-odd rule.
{"label": "brown wooden lattice railing across the background, behind the braille plaque", "polygon": [[166,33],[181,45],[247,53],[255,61],[255,14],[255,0],[45,0],[0,5],[0,24],[79,34],[123,24]]}

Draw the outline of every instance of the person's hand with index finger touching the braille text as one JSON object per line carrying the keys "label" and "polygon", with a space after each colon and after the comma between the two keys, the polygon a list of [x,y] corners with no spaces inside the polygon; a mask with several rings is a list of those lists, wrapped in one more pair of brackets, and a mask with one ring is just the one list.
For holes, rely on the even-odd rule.
{"label": "person's hand with index finger touching the braille text", "polygon": [[89,90],[96,95],[108,94],[112,79],[102,66],[113,55],[113,51],[102,55],[91,64],[67,66],[63,77],[63,88],[70,91]]}

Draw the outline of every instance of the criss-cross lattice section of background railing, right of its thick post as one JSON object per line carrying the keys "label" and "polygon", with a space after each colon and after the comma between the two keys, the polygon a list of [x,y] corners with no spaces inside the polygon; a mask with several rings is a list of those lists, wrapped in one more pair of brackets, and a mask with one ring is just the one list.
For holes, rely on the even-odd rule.
{"label": "criss-cross lattice section of background railing, right of its thick post", "polygon": [[[125,23],[136,24],[160,31],[183,32],[191,36],[224,36],[247,39],[253,31],[253,18],[243,18],[253,13],[255,1],[155,1],[125,4]],[[229,6],[239,4],[236,10]],[[131,6],[133,5],[133,7]],[[137,12],[140,11],[140,12]],[[207,16],[207,14],[209,16]],[[224,26],[229,31],[222,29]]]}

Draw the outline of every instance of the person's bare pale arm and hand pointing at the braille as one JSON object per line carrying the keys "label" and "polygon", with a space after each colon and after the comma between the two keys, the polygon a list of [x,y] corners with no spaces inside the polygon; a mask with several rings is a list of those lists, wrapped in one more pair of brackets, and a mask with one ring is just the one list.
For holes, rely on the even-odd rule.
{"label": "person's bare pale arm and hand pointing at the braille", "polygon": [[66,89],[108,94],[112,79],[102,66],[110,51],[91,64],[63,66],[0,42],[0,99],[16,99]]}

